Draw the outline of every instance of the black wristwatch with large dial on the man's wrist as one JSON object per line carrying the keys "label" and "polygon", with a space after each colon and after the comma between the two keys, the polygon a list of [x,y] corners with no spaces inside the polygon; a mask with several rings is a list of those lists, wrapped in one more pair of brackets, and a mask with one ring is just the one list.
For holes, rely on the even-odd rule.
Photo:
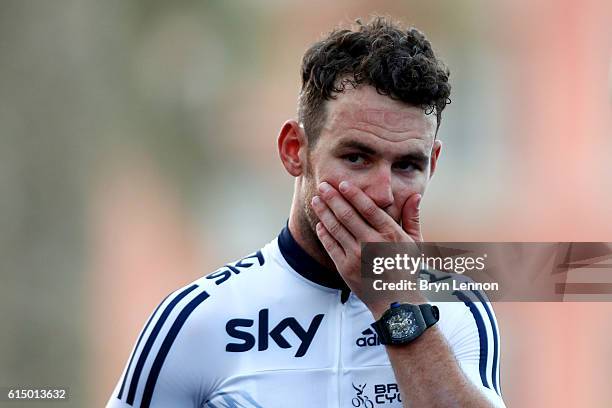
{"label": "black wristwatch with large dial on the man's wrist", "polygon": [[372,324],[381,344],[407,344],[440,320],[437,306],[428,303],[391,303],[382,317]]}

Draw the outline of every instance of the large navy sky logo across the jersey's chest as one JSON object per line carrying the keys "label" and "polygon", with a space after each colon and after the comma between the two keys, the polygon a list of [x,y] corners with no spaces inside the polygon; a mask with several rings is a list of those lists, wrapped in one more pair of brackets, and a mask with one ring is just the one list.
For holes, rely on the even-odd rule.
{"label": "large navy sky logo across the jersey's chest", "polygon": [[261,309],[258,313],[257,328],[255,329],[256,335],[252,334],[249,330],[243,329],[253,327],[255,323],[254,320],[232,319],[225,324],[225,331],[230,337],[242,340],[242,342],[228,343],[225,346],[225,351],[240,353],[251,350],[255,345],[257,345],[258,351],[264,351],[268,349],[268,340],[270,338],[280,348],[293,348],[293,345],[283,336],[285,330],[291,329],[297,338],[300,339],[295,357],[303,357],[312,344],[312,340],[321,325],[323,316],[323,314],[318,314],[313,317],[307,329],[304,329],[295,317],[286,317],[270,330],[269,310]]}

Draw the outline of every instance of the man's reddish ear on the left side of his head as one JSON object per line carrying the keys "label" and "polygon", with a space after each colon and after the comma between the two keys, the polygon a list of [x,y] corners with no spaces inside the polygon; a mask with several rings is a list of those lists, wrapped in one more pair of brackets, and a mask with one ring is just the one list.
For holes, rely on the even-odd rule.
{"label": "man's reddish ear on the left side of his head", "polygon": [[288,120],[278,134],[278,155],[289,174],[298,177],[304,172],[308,140],[304,129],[295,120]]}

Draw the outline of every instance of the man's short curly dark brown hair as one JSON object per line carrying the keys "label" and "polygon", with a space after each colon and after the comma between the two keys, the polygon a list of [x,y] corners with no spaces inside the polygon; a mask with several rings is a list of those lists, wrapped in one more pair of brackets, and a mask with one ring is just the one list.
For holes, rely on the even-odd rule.
{"label": "man's short curly dark brown hair", "polygon": [[370,85],[381,95],[435,112],[437,129],[450,103],[449,71],[425,35],[384,17],[353,29],[336,29],[314,43],[302,59],[298,119],[313,145],[326,119],[325,101],[347,85]]}

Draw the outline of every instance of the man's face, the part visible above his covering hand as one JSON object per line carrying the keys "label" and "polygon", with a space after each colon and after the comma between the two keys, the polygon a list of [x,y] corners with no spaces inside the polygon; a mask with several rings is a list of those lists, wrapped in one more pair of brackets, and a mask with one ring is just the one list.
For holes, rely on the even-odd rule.
{"label": "man's face, the part visible above his covering hand", "polygon": [[319,183],[337,189],[343,180],[361,188],[399,224],[404,203],[425,192],[435,169],[441,146],[435,132],[435,114],[370,86],[347,89],[327,102],[327,120],[308,150],[302,184],[310,227],[318,221],[310,202]]}

